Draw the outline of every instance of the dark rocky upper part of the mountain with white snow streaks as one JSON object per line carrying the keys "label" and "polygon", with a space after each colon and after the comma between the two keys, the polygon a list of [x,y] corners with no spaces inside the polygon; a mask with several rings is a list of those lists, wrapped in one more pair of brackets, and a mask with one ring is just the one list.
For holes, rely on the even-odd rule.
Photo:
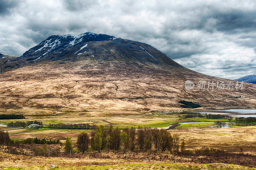
{"label": "dark rocky upper part of the mountain with white snow streaks", "polygon": [[1,66],[3,71],[51,61],[97,60],[129,65],[148,65],[185,69],[156,48],[140,42],[105,34],[52,35],[19,58]]}

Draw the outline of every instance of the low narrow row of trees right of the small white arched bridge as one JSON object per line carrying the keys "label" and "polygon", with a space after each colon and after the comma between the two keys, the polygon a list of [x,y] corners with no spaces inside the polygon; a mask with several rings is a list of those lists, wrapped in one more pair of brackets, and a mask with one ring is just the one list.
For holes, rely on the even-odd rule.
{"label": "low narrow row of trees right of the small white arched bridge", "polygon": [[56,129],[96,129],[96,125],[90,125],[88,123],[79,123],[79,124],[49,124],[49,128],[56,128]]}

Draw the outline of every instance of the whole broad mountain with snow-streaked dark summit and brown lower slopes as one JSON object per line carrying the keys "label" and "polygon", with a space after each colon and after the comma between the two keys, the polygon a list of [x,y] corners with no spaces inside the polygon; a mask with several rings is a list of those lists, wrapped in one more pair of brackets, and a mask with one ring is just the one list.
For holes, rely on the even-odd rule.
{"label": "whole broad mountain with snow-streaked dark summit and brown lower slopes", "polygon": [[[146,43],[91,32],[52,35],[20,57],[3,58],[1,69],[1,112],[180,110],[180,100],[256,104],[255,84],[207,89],[208,82],[231,80],[192,71]],[[194,89],[186,90],[188,80]]]}

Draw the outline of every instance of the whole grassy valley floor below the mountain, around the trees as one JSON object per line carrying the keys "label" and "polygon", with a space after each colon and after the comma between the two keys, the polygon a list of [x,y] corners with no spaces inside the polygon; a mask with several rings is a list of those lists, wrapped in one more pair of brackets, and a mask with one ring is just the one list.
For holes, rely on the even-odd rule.
{"label": "whole grassy valley floor below the mountain, around the trees", "polygon": [[[44,125],[49,123],[69,122],[74,120],[92,120],[113,116],[127,116],[137,115],[141,112],[125,112],[119,111],[116,114],[110,112],[57,112],[56,114],[25,114],[26,119],[23,120],[0,120],[0,124],[7,124],[11,121],[28,121],[40,120]],[[144,112],[145,114],[145,112]],[[185,141],[186,149],[195,153],[195,150],[207,146],[209,148],[221,149],[226,153],[224,155],[210,156],[209,155],[183,155],[183,163],[181,163],[181,155],[171,154],[170,152],[155,153],[155,160],[152,161],[153,151],[129,151],[128,160],[122,151],[107,152],[101,151],[99,158],[95,156],[95,152],[87,152],[85,154],[73,153],[71,158],[64,154],[63,147],[60,148],[62,157],[29,157],[29,149],[26,148],[25,155],[9,154],[7,147],[0,148],[0,169],[52,169],[51,164],[55,165],[55,169],[254,169],[256,167],[256,126],[248,127],[230,127],[230,128],[215,128],[214,123],[204,123],[203,121],[217,121],[218,119],[205,119],[205,118],[184,118],[182,113],[167,113],[167,114],[152,114],[138,117],[128,117],[120,119],[99,120],[94,122],[84,122],[96,125],[114,126],[125,128],[129,126],[138,127],[147,126],[167,127],[170,124],[177,122],[198,122],[190,124],[182,124],[174,129],[168,130],[172,135],[178,134],[180,139]],[[220,121],[228,121],[221,119]],[[4,127],[1,127],[4,129]],[[91,133],[92,130],[85,129],[86,132]],[[15,129],[10,130],[10,138],[15,140],[27,138],[45,138],[47,140],[60,140],[64,142],[66,137],[69,136],[73,143],[76,143],[77,135],[84,130],[82,129],[54,129],[54,128],[41,128],[41,129]],[[60,147],[59,145],[51,145],[51,147]],[[241,148],[244,154],[240,153]],[[52,148],[51,148],[52,149]],[[23,150],[25,150],[23,148]],[[89,159],[91,153],[91,159]],[[105,159],[102,155],[105,155]],[[162,160],[160,161],[160,155]],[[135,155],[135,158],[134,156]],[[142,158],[151,157],[151,161],[142,161]],[[163,160],[164,158],[164,160]],[[174,159],[176,160],[174,163]],[[238,159],[238,163],[237,163]],[[205,164],[206,163],[206,164]],[[236,165],[238,164],[238,165]],[[250,167],[248,167],[250,166]]]}

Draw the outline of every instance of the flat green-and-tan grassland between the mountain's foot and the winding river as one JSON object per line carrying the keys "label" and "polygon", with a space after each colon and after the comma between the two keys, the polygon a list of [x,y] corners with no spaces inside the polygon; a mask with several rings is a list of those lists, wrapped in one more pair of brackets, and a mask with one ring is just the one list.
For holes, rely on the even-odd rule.
{"label": "flat green-and-tan grassland between the mountain's foot and the winding river", "polygon": [[[114,126],[121,129],[125,127],[138,127],[145,126],[151,128],[163,128],[174,123],[179,122],[201,122],[201,121],[228,121],[228,119],[204,119],[204,118],[183,118],[184,114],[181,113],[167,113],[167,114],[151,114],[146,116],[135,116],[135,117],[124,117],[116,118],[122,116],[130,115],[141,115],[141,114],[150,114],[152,112],[68,112],[68,113],[59,113],[56,115],[26,115],[26,120],[0,120],[0,124],[8,124],[11,121],[28,121],[28,120],[39,120],[42,121],[44,125],[56,124],[56,123],[65,123],[65,122],[75,122],[83,121],[83,123],[90,123],[96,125],[105,125],[105,126]],[[98,120],[114,118],[107,120]]]}

